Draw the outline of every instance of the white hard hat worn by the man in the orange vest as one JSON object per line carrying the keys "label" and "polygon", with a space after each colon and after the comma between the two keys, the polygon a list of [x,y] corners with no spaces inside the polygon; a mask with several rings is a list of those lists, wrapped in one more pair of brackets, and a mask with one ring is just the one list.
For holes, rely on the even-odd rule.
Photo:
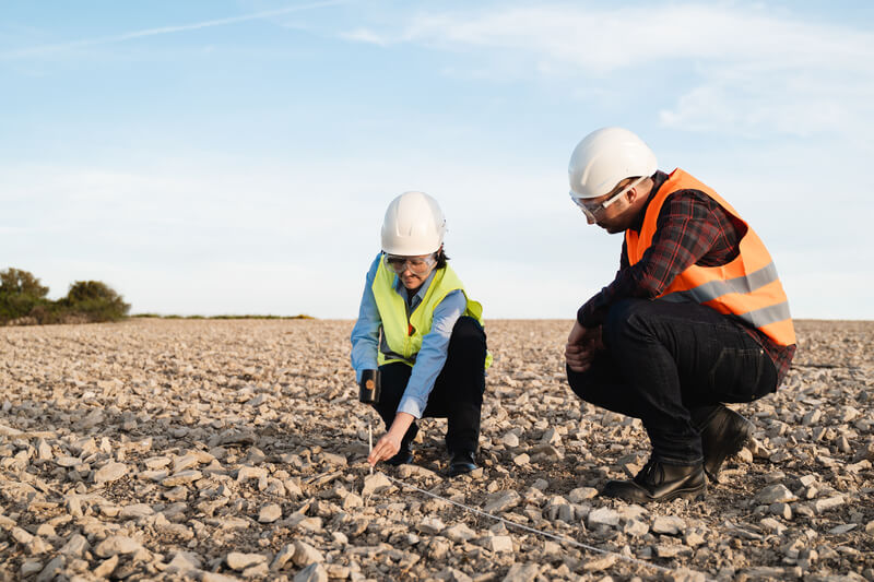
{"label": "white hard hat worn by the man in the orange vest", "polygon": [[627,129],[601,128],[583,138],[570,154],[570,195],[602,197],[625,178],[652,176],[657,168],[656,154],[643,140]]}

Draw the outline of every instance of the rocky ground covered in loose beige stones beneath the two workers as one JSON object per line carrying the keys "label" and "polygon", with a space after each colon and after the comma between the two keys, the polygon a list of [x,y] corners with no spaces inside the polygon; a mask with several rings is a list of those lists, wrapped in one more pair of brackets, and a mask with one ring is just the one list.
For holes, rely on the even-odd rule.
{"label": "rocky ground covered in loose beige stones beneath the two workers", "polygon": [[487,322],[457,479],[445,420],[368,474],[349,321],[0,329],[0,579],[874,580],[874,322],[799,322],[707,499],[648,507],[597,496],[647,439],[570,392],[569,326]]}

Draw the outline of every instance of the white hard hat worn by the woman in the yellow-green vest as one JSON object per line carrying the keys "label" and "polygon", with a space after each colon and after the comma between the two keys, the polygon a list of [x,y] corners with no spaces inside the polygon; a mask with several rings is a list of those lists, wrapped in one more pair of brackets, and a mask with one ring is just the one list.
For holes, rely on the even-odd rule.
{"label": "white hard hat worn by the woman in the yellow-green vest", "polygon": [[425,192],[404,192],[389,204],[382,221],[382,251],[415,257],[440,249],[446,218]]}

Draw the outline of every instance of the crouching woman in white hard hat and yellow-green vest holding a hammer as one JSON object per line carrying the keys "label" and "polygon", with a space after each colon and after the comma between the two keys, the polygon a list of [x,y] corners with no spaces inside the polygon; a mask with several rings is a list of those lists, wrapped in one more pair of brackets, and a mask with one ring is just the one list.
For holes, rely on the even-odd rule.
{"label": "crouching woman in white hard hat and yellow-green vest holding a hammer", "polygon": [[351,337],[361,400],[387,429],[370,465],[412,463],[416,419],[446,417],[449,476],[476,468],[491,357],[483,308],[447,264],[445,233],[440,206],[423,192],[404,192],[386,211],[382,252],[367,272]]}

